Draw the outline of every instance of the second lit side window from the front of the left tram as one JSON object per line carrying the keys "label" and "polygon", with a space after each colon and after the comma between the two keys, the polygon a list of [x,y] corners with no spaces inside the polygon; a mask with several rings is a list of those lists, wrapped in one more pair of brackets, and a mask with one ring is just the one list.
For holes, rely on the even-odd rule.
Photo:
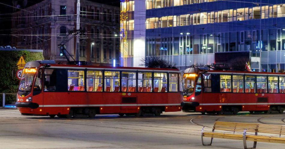
{"label": "second lit side window from the front of the left tram", "polygon": [[102,71],[87,71],[87,91],[102,92]]}

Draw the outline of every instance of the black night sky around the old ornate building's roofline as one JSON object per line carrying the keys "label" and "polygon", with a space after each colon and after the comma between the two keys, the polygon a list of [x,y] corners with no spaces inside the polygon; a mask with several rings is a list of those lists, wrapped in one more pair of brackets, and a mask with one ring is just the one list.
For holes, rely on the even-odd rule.
{"label": "black night sky around the old ornate building's roofline", "polygon": [[[20,4],[22,4],[25,0],[17,0]],[[31,5],[35,5],[38,2],[43,0],[27,0],[27,7]],[[120,0],[88,0],[92,2],[98,2],[106,5],[113,5],[120,7]],[[12,5],[12,0],[0,0],[0,3]],[[11,28],[11,16],[9,13],[13,12],[13,8],[0,4],[0,34],[10,34]],[[10,44],[10,36],[0,35],[0,46],[6,46]]]}

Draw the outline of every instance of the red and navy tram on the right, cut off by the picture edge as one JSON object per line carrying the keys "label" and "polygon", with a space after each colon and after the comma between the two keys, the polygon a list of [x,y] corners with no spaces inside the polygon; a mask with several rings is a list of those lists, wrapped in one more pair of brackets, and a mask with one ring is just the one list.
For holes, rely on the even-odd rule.
{"label": "red and navy tram on the right, cut off by the picture edge", "polygon": [[283,113],[285,73],[214,71],[187,68],[183,76],[184,112],[239,111]]}

